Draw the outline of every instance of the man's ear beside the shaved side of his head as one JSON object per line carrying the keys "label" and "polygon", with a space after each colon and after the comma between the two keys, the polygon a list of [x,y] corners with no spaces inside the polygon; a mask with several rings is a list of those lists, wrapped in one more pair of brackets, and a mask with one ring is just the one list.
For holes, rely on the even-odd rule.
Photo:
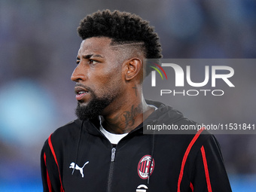
{"label": "man's ear beside the shaved side of his head", "polygon": [[126,81],[130,81],[136,76],[138,76],[138,74],[141,72],[142,60],[139,58],[129,59],[127,60],[125,66],[125,79]]}

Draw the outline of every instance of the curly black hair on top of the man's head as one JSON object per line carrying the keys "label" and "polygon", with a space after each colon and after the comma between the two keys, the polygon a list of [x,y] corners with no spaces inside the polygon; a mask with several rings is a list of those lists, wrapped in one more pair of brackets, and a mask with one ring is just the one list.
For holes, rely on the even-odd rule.
{"label": "curly black hair on top of the man's head", "polygon": [[[148,21],[136,14],[120,11],[97,11],[87,15],[78,26],[78,35],[84,40],[92,37],[108,37],[113,44],[143,43],[145,58],[162,57],[159,37]],[[146,67],[146,75],[151,72]]]}

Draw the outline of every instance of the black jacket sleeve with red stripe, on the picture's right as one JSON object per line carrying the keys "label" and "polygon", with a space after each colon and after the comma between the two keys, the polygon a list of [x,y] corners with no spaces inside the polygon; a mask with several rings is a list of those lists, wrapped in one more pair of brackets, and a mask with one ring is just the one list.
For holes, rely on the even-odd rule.
{"label": "black jacket sleeve with red stripe, on the picture's right", "polygon": [[210,136],[198,151],[194,163],[194,181],[191,181],[190,188],[194,192],[232,191],[215,136]]}

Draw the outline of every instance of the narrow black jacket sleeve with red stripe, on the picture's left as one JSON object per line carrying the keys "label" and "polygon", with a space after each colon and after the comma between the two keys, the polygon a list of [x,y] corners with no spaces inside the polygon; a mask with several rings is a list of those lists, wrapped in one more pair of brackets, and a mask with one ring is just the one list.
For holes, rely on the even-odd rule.
{"label": "narrow black jacket sleeve with red stripe, on the picture's left", "polygon": [[60,181],[59,167],[55,160],[56,157],[54,158],[54,151],[50,149],[49,139],[41,150],[41,178],[44,192],[62,192],[64,190]]}

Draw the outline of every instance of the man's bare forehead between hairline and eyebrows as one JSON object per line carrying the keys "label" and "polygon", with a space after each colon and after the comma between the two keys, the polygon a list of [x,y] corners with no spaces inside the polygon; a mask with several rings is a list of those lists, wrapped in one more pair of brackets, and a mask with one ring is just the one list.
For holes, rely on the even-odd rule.
{"label": "man's bare forehead between hairline and eyebrows", "polygon": [[78,55],[90,53],[105,53],[111,50],[111,38],[87,38],[81,42]]}

